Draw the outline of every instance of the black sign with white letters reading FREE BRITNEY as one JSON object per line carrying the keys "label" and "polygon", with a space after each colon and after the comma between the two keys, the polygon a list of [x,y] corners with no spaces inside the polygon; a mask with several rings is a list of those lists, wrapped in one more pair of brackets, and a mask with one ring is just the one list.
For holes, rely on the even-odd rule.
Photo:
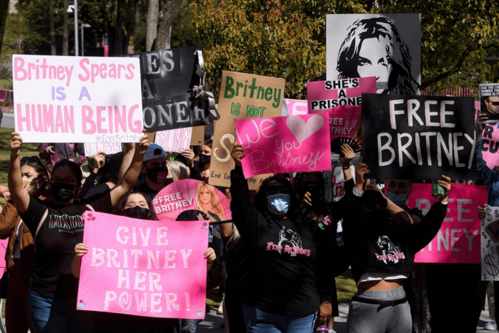
{"label": "black sign with white letters reading FREE BRITNEY", "polygon": [[362,94],[362,160],[376,179],[477,178],[472,97]]}

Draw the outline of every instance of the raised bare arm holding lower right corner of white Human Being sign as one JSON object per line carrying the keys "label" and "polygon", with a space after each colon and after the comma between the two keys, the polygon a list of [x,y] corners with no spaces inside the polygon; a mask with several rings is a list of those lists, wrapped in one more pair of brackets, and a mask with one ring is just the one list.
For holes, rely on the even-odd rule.
{"label": "raised bare arm holding lower right corner of white Human Being sign", "polygon": [[127,172],[123,176],[122,181],[111,190],[111,205],[114,206],[118,201],[128,192],[130,192],[137,179],[139,178],[140,168],[142,166],[142,159],[149,147],[149,140],[147,139],[146,130],[143,130],[144,135],[140,138],[140,144],[135,145],[135,153],[133,154],[132,161],[128,167]]}

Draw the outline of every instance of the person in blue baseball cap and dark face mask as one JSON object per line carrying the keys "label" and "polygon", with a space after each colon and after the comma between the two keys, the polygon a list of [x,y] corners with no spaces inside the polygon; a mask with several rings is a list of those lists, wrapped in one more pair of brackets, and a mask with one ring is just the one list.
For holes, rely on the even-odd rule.
{"label": "person in blue baseball cap and dark face mask", "polygon": [[141,175],[134,189],[152,197],[158,194],[166,185],[173,183],[168,178],[165,150],[156,143],[151,143],[144,155]]}

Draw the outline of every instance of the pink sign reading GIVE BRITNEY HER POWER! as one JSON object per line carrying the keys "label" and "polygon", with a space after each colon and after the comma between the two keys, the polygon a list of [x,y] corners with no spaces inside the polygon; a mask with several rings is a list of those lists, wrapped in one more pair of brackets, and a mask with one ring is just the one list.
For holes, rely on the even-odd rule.
{"label": "pink sign reading GIVE BRITNEY HER POWER!", "polygon": [[85,212],[79,310],[204,319],[208,221]]}

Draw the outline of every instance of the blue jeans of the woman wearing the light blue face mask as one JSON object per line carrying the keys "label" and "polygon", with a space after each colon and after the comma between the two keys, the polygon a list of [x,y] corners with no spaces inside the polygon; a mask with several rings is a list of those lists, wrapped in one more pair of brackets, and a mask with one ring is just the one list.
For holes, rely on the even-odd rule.
{"label": "blue jeans of the woman wearing the light blue face mask", "polygon": [[306,317],[274,315],[243,304],[248,333],[312,333],[317,313]]}

